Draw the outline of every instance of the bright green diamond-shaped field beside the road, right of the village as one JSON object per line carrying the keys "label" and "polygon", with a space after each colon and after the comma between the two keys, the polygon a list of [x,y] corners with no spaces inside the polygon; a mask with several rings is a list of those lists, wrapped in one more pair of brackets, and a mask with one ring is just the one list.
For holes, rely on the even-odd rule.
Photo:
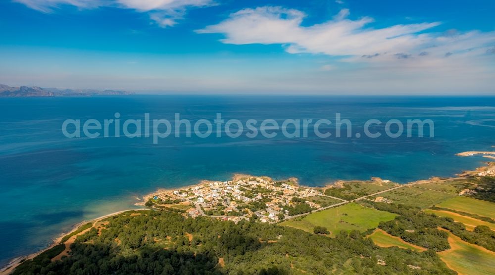
{"label": "bright green diamond-shaped field beside the road, right of the village", "polygon": [[365,208],[356,203],[348,203],[336,208],[309,214],[303,218],[287,220],[280,225],[291,226],[307,232],[313,232],[314,226],[324,226],[335,235],[341,230],[365,231],[375,228],[380,221],[393,220],[395,214]]}

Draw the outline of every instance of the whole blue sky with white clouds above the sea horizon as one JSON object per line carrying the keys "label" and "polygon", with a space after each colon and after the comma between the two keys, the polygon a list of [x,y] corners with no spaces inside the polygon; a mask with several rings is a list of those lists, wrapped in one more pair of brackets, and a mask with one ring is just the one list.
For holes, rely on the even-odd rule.
{"label": "whole blue sky with white clouds above the sea horizon", "polygon": [[0,83],[495,94],[495,1],[6,0]]}

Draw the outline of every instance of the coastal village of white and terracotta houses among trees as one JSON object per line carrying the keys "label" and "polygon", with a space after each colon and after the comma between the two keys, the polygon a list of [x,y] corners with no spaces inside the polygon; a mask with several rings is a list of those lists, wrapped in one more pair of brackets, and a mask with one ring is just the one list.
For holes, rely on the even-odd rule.
{"label": "coastal village of white and terracotta houses among trees", "polygon": [[243,219],[277,222],[341,201],[324,195],[321,189],[298,186],[295,181],[248,176],[158,192],[148,197],[146,205],[180,209],[193,218],[208,216],[237,223]]}

